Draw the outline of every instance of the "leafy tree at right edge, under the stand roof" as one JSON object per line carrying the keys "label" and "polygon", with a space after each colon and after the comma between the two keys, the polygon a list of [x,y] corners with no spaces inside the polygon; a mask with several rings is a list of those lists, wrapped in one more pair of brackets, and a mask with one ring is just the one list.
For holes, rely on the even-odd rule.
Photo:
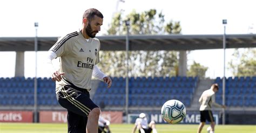
{"label": "leafy tree at right edge, under the stand roof", "polygon": [[234,76],[255,76],[256,75],[256,49],[235,49],[234,59],[228,62],[228,68]]}

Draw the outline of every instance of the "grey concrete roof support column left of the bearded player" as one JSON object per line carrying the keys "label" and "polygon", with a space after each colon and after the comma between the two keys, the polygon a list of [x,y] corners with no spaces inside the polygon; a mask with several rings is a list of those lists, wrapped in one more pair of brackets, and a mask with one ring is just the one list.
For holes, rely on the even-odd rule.
{"label": "grey concrete roof support column left of the bearded player", "polygon": [[15,77],[24,77],[24,51],[16,51]]}

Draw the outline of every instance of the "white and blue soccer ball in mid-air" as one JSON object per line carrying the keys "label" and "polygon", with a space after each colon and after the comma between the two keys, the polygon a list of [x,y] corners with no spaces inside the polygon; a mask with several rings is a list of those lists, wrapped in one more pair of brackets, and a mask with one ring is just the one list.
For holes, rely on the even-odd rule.
{"label": "white and blue soccer ball in mid-air", "polygon": [[186,116],[186,108],[179,100],[169,100],[161,108],[163,119],[171,124],[181,122]]}

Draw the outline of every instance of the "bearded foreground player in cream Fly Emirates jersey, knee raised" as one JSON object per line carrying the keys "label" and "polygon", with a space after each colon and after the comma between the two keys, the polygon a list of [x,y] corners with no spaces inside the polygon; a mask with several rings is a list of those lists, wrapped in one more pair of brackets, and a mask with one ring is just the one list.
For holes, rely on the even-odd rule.
{"label": "bearded foreground player in cream Fly Emirates jersey, knee raised", "polygon": [[[100,42],[95,38],[103,24],[103,14],[88,9],[83,14],[82,28],[60,38],[48,54],[51,78],[56,82],[59,104],[68,110],[68,132],[98,132],[100,108],[90,99],[91,78],[110,87],[111,78],[99,70]],[[52,66],[59,57],[59,70]]]}

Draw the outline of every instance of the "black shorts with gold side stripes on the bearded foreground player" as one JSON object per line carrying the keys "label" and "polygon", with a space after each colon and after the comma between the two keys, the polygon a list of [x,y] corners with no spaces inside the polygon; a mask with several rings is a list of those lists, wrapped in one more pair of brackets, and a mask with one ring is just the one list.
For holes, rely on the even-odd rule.
{"label": "black shorts with gold side stripes on the bearded foreground player", "polygon": [[57,93],[59,104],[68,110],[68,132],[86,132],[87,115],[98,106],[90,93],[73,85],[65,85]]}

